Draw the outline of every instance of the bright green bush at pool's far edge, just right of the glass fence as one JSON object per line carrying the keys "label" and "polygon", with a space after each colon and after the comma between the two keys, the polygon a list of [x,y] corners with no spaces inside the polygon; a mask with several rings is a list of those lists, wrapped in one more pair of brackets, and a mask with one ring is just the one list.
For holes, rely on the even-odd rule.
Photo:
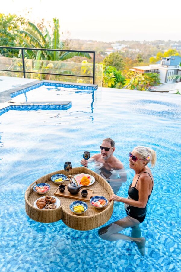
{"label": "bright green bush at pool's far edge, just right of the glass fence", "polygon": [[125,77],[113,66],[103,66],[103,87],[121,88]]}

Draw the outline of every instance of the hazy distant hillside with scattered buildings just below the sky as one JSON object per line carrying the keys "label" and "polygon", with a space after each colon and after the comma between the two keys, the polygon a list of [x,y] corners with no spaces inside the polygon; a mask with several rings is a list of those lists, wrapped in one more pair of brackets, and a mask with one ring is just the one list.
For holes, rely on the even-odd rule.
{"label": "hazy distant hillside with scattered buildings just below the sky", "polygon": [[119,40],[113,43],[94,41],[94,40],[66,40],[69,49],[73,50],[91,50],[96,51],[96,62],[101,63],[104,57],[112,52],[118,51],[123,57],[135,59],[140,54],[145,62],[149,61],[150,57],[156,56],[161,51],[167,51],[169,48],[176,49],[181,54],[181,40],[179,41],[125,41]]}

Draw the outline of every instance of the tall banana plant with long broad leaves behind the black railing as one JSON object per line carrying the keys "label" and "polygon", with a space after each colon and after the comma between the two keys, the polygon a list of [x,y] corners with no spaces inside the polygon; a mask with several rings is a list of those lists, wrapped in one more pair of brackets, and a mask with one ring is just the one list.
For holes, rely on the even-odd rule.
{"label": "tall banana plant with long broad leaves behind the black railing", "polygon": [[[52,48],[52,49],[64,49],[64,43],[60,40],[60,26],[59,20],[54,18],[54,27],[52,37],[45,27],[44,31],[40,31],[37,26],[31,22],[28,22],[28,28],[26,30],[18,30],[18,34],[23,40],[23,47],[35,47],[35,48]],[[87,57],[91,59],[88,53],[83,52],[58,52],[58,51],[34,51],[26,50],[25,57],[36,60],[67,60],[74,56]]]}

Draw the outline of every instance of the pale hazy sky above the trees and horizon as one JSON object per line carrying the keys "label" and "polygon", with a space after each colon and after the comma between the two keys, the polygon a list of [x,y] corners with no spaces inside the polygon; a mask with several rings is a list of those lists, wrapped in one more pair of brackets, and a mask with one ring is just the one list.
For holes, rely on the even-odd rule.
{"label": "pale hazy sky above the trees and horizon", "polygon": [[59,18],[72,39],[181,40],[181,0],[0,0],[1,13]]}

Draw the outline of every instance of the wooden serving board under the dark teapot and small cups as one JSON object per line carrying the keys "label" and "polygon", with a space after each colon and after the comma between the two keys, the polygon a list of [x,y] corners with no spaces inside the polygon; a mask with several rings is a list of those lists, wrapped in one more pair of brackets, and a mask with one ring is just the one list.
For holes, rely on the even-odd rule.
{"label": "wooden serving board under the dark teapot and small cups", "polygon": [[[81,191],[82,190],[87,190],[88,195],[86,197],[83,197],[81,195]],[[84,188],[81,188],[81,190],[76,195],[72,195],[68,191],[67,185],[65,185],[65,191],[64,192],[60,192],[59,187],[57,187],[54,195],[55,196],[62,196],[62,197],[72,198],[72,199],[81,200],[81,201],[86,201],[86,202],[89,202],[92,196],[97,196],[97,194],[93,194],[93,190],[91,190],[91,189],[84,189]]]}

